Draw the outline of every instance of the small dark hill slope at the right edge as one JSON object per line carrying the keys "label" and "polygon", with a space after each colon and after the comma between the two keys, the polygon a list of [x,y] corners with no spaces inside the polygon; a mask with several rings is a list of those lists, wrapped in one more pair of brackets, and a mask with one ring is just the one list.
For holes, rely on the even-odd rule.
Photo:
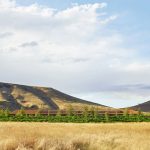
{"label": "small dark hill slope at the right edge", "polygon": [[150,101],[130,107],[133,110],[141,110],[142,112],[150,112]]}

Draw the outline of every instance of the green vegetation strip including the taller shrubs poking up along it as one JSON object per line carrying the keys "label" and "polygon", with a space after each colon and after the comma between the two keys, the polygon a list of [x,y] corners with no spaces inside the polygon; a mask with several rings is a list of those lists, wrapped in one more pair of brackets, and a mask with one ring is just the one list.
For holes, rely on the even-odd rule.
{"label": "green vegetation strip including the taller shrubs poking up along it", "polygon": [[104,115],[99,115],[98,111],[91,111],[89,114],[87,110],[83,111],[82,115],[73,114],[73,111],[68,111],[67,116],[62,116],[60,111],[56,116],[41,115],[40,113],[34,115],[27,115],[21,109],[17,114],[12,115],[8,109],[0,110],[1,122],[73,122],[73,123],[88,123],[88,122],[150,122],[150,115],[145,115],[138,112],[138,114],[128,114],[125,110],[123,115],[109,115],[107,112]]}

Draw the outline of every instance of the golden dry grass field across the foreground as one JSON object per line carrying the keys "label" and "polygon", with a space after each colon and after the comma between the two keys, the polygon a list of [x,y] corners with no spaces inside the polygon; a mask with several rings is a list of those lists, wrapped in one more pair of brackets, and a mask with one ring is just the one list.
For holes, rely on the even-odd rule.
{"label": "golden dry grass field across the foreground", "polygon": [[0,150],[149,150],[150,123],[0,123]]}

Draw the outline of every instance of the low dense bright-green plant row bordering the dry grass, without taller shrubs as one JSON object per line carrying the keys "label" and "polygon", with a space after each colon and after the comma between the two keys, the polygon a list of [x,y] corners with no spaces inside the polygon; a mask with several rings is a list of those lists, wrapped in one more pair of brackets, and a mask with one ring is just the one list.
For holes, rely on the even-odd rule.
{"label": "low dense bright-green plant row bordering the dry grass, without taller shrubs", "polygon": [[73,123],[88,123],[88,122],[150,122],[149,116],[144,115],[126,115],[126,116],[44,116],[44,115],[0,115],[1,122],[73,122]]}

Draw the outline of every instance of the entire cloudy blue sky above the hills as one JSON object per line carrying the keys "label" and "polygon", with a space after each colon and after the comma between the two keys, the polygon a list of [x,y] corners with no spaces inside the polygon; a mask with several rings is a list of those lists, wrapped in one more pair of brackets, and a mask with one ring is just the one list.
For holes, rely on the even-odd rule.
{"label": "entire cloudy blue sky above the hills", "polygon": [[0,0],[0,82],[112,107],[150,100],[150,1]]}

